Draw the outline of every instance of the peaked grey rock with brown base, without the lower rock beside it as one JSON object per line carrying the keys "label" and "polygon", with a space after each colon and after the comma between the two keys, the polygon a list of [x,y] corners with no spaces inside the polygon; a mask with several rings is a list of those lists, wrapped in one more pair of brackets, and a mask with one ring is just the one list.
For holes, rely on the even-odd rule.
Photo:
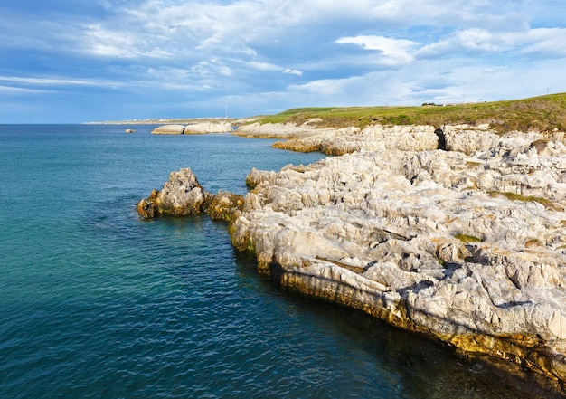
{"label": "peaked grey rock with brown base, without the lower rock beside it", "polygon": [[199,214],[211,200],[211,194],[203,190],[190,168],[171,172],[169,181],[161,191],[152,194],[137,204],[137,213],[143,218],[173,215]]}

